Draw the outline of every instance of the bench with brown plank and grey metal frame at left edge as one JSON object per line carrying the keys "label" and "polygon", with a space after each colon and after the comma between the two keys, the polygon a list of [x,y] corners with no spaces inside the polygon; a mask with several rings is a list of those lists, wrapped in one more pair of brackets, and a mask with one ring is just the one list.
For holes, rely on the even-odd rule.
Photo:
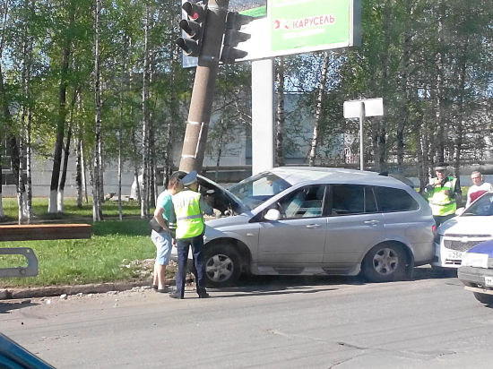
{"label": "bench with brown plank and grey metal frame at left edge", "polygon": [[[27,224],[0,226],[0,241],[36,241],[91,238],[89,224]],[[0,278],[36,277],[38,258],[30,247],[0,247],[0,255],[22,255],[26,267],[0,268]]]}

